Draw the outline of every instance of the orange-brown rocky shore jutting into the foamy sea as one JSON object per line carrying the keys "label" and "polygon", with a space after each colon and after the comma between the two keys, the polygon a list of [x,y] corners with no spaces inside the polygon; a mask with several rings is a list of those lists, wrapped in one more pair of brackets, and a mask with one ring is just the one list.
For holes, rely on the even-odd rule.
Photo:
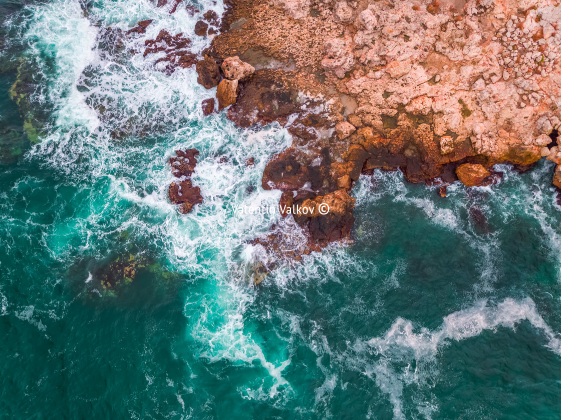
{"label": "orange-brown rocky shore jutting into the foamy sea", "polygon": [[[546,157],[561,187],[560,51],[553,0],[231,0],[196,69],[238,126],[291,133],[263,188],[332,206],[295,217],[306,240],[293,257],[348,239],[352,186],[374,169],[444,197],[456,181],[496,183],[495,164]],[[282,256],[282,236],[257,242]]]}

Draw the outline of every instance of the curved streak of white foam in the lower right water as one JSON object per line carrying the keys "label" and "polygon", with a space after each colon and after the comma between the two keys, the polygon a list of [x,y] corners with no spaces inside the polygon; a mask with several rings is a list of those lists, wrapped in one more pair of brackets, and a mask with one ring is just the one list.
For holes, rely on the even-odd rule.
{"label": "curved streak of white foam in the lower right water", "polygon": [[[546,347],[561,355],[561,340],[545,323],[529,297],[523,300],[507,298],[497,305],[490,305],[486,300],[477,301],[467,309],[445,316],[436,330],[416,328],[411,321],[398,318],[383,336],[358,341],[352,348],[358,354],[368,352],[376,356],[376,362],[373,365],[365,362],[362,371],[388,394],[394,418],[404,419],[404,387],[430,388],[429,379],[435,381],[438,373],[435,356],[449,340],[476,337],[485,330],[496,331],[499,326],[514,329],[523,320],[541,330],[547,340]],[[415,365],[414,370],[411,370],[412,365]],[[434,403],[419,404],[420,412],[422,410],[428,416],[426,418],[430,418],[430,413],[435,410]]]}

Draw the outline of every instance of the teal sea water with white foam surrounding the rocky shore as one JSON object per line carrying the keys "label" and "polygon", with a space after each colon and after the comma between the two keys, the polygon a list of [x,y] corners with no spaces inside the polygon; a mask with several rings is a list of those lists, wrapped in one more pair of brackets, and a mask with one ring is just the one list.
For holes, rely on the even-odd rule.
{"label": "teal sea water with white foam surrounding the rocky shore", "polygon": [[[199,16],[148,0],[0,12],[0,417],[561,417],[551,162],[445,199],[399,172],[363,176],[354,244],[254,287],[248,242],[279,216],[234,209],[277,202],[261,174],[288,133],[203,117],[214,91],[194,69],[168,76],[159,56],[127,53],[160,29],[205,48]],[[109,51],[109,27],[146,18]],[[204,203],[185,216],[167,158],[190,147]],[[136,276],[106,290],[117,259]]]}

